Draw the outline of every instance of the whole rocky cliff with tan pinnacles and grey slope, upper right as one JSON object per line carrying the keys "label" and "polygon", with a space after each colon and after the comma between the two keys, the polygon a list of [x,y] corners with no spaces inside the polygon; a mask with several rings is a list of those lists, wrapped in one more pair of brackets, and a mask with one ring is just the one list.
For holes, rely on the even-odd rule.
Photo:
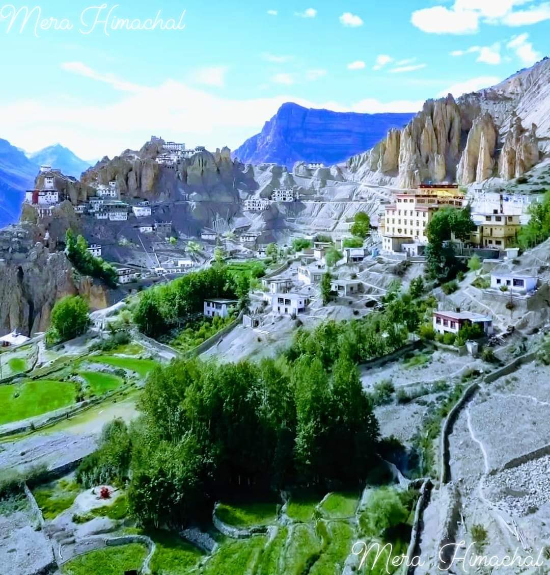
{"label": "whole rocky cliff with tan pinnacles and grey slope, upper right", "polygon": [[550,151],[550,60],[456,101],[428,100],[401,132],[390,130],[347,162],[351,179],[416,187],[467,185],[525,173]]}

